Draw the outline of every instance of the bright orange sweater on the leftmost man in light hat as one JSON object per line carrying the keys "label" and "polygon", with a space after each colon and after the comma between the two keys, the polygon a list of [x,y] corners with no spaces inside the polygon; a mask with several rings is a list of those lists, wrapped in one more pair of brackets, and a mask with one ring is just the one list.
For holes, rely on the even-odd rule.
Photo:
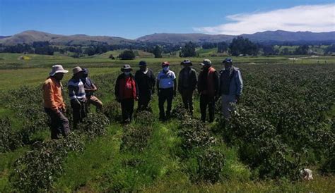
{"label": "bright orange sweater on the leftmost man in light hat", "polygon": [[43,84],[43,106],[57,111],[65,108],[63,96],[61,95],[61,83],[54,77],[48,77]]}

